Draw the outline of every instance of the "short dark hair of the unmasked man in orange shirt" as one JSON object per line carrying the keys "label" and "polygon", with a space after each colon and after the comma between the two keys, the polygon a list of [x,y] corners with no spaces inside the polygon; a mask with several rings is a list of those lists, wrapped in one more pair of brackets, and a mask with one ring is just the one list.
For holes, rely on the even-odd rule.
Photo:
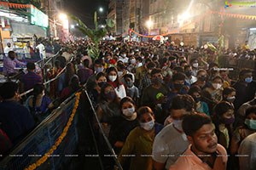
{"label": "short dark hair of the unmasked man in orange shirt", "polygon": [[186,115],[183,118],[183,131],[186,135],[193,137],[196,131],[206,124],[212,125],[212,120],[204,113]]}

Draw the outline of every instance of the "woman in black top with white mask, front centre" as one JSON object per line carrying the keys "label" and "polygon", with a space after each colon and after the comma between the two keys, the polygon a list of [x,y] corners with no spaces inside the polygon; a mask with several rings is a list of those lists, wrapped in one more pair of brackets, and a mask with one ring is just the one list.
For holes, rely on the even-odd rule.
{"label": "woman in black top with white mask, front centre", "polygon": [[121,115],[113,120],[109,133],[109,142],[113,145],[116,154],[125,144],[125,139],[134,127],[137,127],[136,105],[133,99],[125,97],[120,101]]}

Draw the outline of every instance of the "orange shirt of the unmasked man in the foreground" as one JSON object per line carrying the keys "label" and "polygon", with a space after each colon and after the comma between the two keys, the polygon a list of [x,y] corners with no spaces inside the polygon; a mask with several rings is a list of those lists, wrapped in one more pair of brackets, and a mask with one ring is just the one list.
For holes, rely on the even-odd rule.
{"label": "orange shirt of the unmasked man in the foreground", "polygon": [[[170,170],[212,170],[212,167],[206,162],[201,161],[190,148],[191,144],[189,145],[189,149],[184,152],[183,156],[180,156],[175,164],[170,167]],[[222,145],[218,144],[217,153],[218,156],[214,161],[213,170],[225,170],[228,161],[227,151]]]}

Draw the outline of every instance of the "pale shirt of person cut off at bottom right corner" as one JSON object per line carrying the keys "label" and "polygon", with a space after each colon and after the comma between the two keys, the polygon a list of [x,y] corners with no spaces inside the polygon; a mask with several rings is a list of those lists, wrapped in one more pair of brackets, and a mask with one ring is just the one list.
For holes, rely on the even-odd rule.
{"label": "pale shirt of person cut off at bottom right corner", "polygon": [[256,167],[256,133],[243,139],[238,149],[240,170],[255,170]]}

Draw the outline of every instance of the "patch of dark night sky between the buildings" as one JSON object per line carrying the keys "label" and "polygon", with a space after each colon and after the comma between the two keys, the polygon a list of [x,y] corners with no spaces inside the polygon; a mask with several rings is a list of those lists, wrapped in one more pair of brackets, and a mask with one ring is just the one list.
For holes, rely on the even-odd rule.
{"label": "patch of dark night sky between the buildings", "polygon": [[[100,17],[100,23],[103,24],[103,20],[106,19],[108,10],[108,0],[64,0],[65,10],[73,15],[79,17],[84,21],[84,24],[90,28],[94,26],[93,15],[97,10],[97,14]],[[102,7],[103,12],[100,14],[98,8]]]}

